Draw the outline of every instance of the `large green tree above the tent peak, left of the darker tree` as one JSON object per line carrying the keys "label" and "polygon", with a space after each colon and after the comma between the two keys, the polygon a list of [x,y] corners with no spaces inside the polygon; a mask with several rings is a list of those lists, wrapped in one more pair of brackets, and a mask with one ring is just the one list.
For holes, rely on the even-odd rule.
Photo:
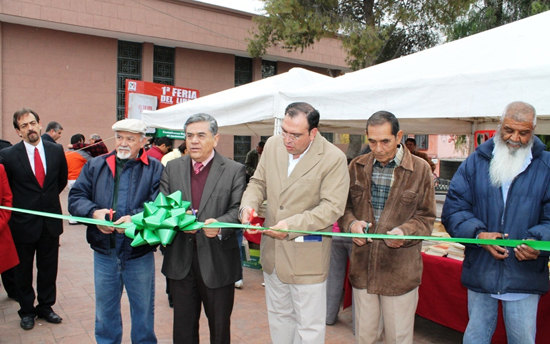
{"label": "large green tree above the tent peak, left of the darker tree", "polygon": [[253,57],[280,44],[289,51],[324,37],[341,40],[346,63],[361,69],[432,47],[473,0],[264,0],[248,40]]}

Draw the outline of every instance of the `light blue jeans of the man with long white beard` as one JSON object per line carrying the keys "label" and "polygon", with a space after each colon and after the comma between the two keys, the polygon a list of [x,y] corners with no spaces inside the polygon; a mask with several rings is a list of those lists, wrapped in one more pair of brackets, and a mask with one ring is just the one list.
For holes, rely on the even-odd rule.
{"label": "light blue jeans of the man with long white beard", "polygon": [[[540,295],[530,295],[518,301],[502,301],[508,344],[535,343],[537,308]],[[490,294],[468,290],[470,321],[464,332],[464,344],[491,343],[497,326],[498,301]]]}

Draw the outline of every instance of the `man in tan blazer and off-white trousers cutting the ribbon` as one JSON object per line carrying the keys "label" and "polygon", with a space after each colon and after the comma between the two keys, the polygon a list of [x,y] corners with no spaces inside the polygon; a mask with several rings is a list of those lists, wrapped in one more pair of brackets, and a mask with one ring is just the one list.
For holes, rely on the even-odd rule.
{"label": "man in tan blazer and off-white trousers cutting the ribbon", "polygon": [[[270,138],[241,201],[241,221],[267,199],[262,233],[269,328],[273,343],[323,343],[329,237],[349,189],[346,156],[319,134],[319,112],[307,103],[285,110],[281,135]],[[254,214],[256,215],[256,214]],[[283,230],[283,231],[276,231]]]}

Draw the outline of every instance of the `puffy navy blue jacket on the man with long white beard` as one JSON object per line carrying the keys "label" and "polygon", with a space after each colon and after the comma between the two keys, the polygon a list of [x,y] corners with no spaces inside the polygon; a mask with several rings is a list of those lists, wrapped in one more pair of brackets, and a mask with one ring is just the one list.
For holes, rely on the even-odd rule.
{"label": "puffy navy blue jacket on the man with long white beard", "polygon": [[[507,233],[509,239],[550,240],[550,153],[535,137],[533,160],[508,190],[506,208],[501,188],[492,186],[489,165],[493,139],[460,165],[451,181],[441,220],[453,237],[475,238],[480,232]],[[466,247],[462,284],[479,293],[544,294],[548,291],[548,254],[518,261],[513,248],[504,260],[477,245]]]}

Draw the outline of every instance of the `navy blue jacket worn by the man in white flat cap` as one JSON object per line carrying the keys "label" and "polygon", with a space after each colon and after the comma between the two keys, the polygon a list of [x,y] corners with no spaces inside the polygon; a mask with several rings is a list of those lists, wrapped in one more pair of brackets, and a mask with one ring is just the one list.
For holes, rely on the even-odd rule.
{"label": "navy blue jacket worn by the man in white flat cap", "polygon": [[[163,166],[156,159],[149,159],[141,152],[136,160],[124,165],[118,183],[117,212],[113,221],[124,215],[143,211],[143,203],[153,201],[158,193]],[[116,152],[96,157],[86,163],[76,183],[69,192],[69,212],[74,216],[92,217],[98,209],[110,209],[115,186]],[[95,251],[110,254],[110,236],[88,225],[86,238]],[[139,258],[156,246],[131,247],[132,239],[116,233],[116,249],[119,259]]]}

